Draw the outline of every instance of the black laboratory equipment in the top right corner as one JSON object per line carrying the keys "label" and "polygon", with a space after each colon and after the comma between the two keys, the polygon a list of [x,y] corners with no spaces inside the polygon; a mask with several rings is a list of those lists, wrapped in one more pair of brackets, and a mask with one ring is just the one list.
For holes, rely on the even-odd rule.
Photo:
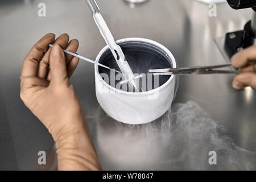
{"label": "black laboratory equipment in the top right corner", "polygon": [[256,0],[227,0],[233,9],[253,9],[252,19],[243,30],[229,32],[225,37],[225,51],[229,57],[242,49],[256,45]]}

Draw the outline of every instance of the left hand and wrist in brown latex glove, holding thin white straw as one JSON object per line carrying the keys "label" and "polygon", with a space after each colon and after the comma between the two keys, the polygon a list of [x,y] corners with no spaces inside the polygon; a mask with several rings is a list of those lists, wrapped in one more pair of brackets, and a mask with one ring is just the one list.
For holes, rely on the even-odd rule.
{"label": "left hand and wrist in brown latex glove, holding thin white straw", "polygon": [[62,50],[76,52],[78,47],[79,42],[69,42],[67,34],[56,40],[54,34],[47,34],[28,52],[20,75],[20,98],[52,134],[60,170],[101,169],[80,102],[69,83],[79,59]]}

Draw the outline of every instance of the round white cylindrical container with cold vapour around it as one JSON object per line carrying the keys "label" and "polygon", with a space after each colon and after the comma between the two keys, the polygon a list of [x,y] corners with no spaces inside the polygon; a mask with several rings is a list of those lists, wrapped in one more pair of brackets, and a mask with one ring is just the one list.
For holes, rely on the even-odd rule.
{"label": "round white cylindrical container with cold vapour around it", "polygon": [[[117,41],[118,44],[129,42],[160,49],[172,68],[176,68],[174,56],[163,45],[143,38],[126,38]],[[100,51],[95,64],[96,96],[102,109],[119,122],[135,125],[148,123],[162,116],[174,100],[175,76],[172,75],[162,86],[147,92],[134,93],[115,89],[102,79],[98,71],[97,64],[107,50],[108,46]]]}

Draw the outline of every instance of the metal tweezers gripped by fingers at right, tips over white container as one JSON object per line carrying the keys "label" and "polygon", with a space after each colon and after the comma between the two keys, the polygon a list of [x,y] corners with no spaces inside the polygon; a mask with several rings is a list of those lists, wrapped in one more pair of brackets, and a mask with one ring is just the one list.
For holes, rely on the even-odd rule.
{"label": "metal tweezers gripped by fingers at right, tips over white container", "polygon": [[232,67],[231,64],[214,65],[208,67],[191,67],[191,68],[166,68],[166,69],[150,69],[148,72],[153,75],[210,75],[210,74],[233,74],[236,75],[240,71],[221,70],[217,68]]}

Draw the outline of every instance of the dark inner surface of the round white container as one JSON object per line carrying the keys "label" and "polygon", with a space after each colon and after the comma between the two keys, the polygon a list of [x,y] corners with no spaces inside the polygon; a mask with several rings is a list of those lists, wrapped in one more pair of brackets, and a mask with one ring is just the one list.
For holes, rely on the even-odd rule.
{"label": "dark inner surface of the round white container", "polygon": [[[161,48],[154,44],[139,42],[139,41],[129,41],[119,43],[119,46],[122,48],[123,53],[125,54],[126,60],[128,61],[131,70],[137,75],[142,73],[147,74],[149,69],[161,69],[161,68],[172,68],[172,62],[170,57],[164,52]],[[100,57],[98,63],[104,64],[109,68],[119,70],[118,65],[112,55],[110,49],[107,49]],[[98,67],[98,72],[105,73],[110,78],[111,72],[109,69],[104,67]],[[115,76],[118,73],[115,72]],[[145,76],[145,79],[140,79],[139,83],[142,87],[142,81],[144,81],[143,91],[149,91],[159,86],[162,86],[171,76],[159,76],[158,84],[155,85],[155,77],[151,75],[150,78]],[[106,81],[106,80],[105,80]],[[111,82],[108,79],[107,84],[110,84],[114,88],[117,88],[119,80]],[[149,85],[151,84],[151,85]],[[125,89],[124,89],[125,90]],[[126,85],[126,91],[128,90],[128,85]],[[142,90],[141,90],[142,91]]]}

